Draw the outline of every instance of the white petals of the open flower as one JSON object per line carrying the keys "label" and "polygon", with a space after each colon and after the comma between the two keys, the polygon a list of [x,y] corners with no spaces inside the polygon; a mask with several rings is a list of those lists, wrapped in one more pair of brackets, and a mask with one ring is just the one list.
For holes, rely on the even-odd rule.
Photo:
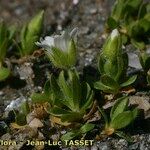
{"label": "white petals of the open flower", "polygon": [[77,31],[78,29],[74,28],[70,33],[63,31],[61,35],[46,36],[40,39],[40,42],[36,42],[36,45],[43,47],[48,53],[52,52],[52,47],[66,52],[71,39],[76,42]]}

